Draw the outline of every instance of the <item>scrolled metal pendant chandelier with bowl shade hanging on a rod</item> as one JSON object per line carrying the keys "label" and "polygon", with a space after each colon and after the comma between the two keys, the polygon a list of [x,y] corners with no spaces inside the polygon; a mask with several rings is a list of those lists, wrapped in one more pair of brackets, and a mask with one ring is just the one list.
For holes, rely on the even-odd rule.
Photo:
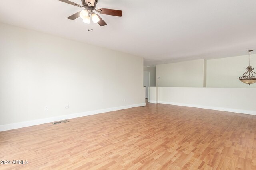
{"label": "scrolled metal pendant chandelier with bowl shade hanging on a rod", "polygon": [[256,83],[256,73],[252,70],[254,70],[254,68],[252,68],[251,66],[251,51],[249,50],[248,52],[250,52],[250,58],[249,58],[249,66],[245,69],[246,72],[243,74],[242,77],[239,77],[239,80],[243,83],[246,84],[252,84],[252,83]]}

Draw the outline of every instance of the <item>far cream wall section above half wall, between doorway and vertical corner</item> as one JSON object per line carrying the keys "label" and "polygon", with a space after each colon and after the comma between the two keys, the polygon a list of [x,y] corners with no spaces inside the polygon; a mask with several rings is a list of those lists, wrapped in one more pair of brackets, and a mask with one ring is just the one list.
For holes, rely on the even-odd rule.
{"label": "far cream wall section above half wall, between doorway and vertical corner", "polygon": [[204,87],[204,64],[200,59],[156,65],[156,86]]}

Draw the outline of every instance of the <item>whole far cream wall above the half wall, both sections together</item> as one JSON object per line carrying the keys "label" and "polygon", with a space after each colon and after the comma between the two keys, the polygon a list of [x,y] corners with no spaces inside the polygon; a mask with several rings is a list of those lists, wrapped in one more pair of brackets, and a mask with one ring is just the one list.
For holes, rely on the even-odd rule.
{"label": "whole far cream wall above the half wall, both sections together", "polygon": [[[248,65],[249,55],[160,64],[156,65],[156,86],[256,88],[256,83],[249,86],[239,80]],[[256,54],[251,55],[251,66],[256,69]]]}

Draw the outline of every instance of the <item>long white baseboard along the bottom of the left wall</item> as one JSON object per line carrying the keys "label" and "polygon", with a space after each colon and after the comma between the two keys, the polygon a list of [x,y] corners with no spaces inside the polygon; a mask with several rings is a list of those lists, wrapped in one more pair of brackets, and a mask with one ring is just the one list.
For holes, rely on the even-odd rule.
{"label": "long white baseboard along the bottom of the left wall", "polygon": [[106,112],[110,112],[110,111],[129,109],[132,107],[139,107],[139,106],[145,106],[145,105],[146,105],[146,103],[132,104],[132,105],[127,105],[127,106],[119,106],[119,107],[112,107],[112,108],[100,109],[100,110],[94,110],[94,111],[86,111],[86,112],[82,112],[82,113],[74,113],[74,114],[70,114],[70,115],[62,115],[62,116],[58,116],[58,117],[37,119],[37,120],[33,120],[33,121],[24,121],[24,122],[19,122],[19,123],[0,125],[0,131],[8,131],[11,129],[18,129],[18,128],[22,128],[22,127],[40,125],[40,124],[44,124],[44,123],[51,123],[54,121],[73,119],[73,118],[77,118],[77,117],[95,115],[95,114],[99,114],[99,113],[106,113]]}

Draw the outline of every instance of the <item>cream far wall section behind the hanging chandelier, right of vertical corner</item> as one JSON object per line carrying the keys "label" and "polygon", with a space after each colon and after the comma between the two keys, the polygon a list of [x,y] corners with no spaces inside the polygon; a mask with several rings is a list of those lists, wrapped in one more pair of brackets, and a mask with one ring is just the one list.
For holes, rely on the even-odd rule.
{"label": "cream far wall section behind the hanging chandelier, right of vertical corner", "polygon": [[[239,80],[248,65],[249,55],[207,60],[207,87],[256,88],[256,83],[249,86]],[[251,66],[256,69],[255,54]]]}

